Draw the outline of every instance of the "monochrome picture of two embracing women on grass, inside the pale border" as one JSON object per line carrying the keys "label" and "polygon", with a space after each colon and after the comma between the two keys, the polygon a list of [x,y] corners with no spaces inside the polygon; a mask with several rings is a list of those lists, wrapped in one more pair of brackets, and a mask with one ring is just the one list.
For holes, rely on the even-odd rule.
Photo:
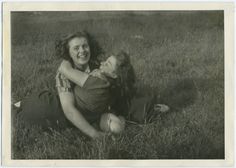
{"label": "monochrome picture of two embracing women on grass, inside the pale border", "polygon": [[227,160],[225,18],[10,11],[10,159]]}

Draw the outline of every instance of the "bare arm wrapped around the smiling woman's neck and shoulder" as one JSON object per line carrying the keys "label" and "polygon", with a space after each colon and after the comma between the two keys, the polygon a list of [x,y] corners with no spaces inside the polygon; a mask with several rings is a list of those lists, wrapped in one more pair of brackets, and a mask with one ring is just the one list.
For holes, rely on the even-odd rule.
{"label": "bare arm wrapped around the smiling woman's neck and shoulder", "polygon": [[63,60],[58,71],[62,73],[73,83],[83,87],[85,81],[88,79],[88,74],[77,69],[72,68],[69,61]]}

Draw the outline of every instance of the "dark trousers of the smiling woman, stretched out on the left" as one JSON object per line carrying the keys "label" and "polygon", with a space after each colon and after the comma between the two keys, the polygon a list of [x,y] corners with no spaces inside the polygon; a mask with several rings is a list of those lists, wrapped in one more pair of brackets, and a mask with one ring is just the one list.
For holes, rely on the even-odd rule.
{"label": "dark trousers of the smiling woman, stretched out on the left", "polygon": [[28,125],[39,125],[43,129],[73,127],[65,117],[59,96],[50,91],[34,93],[22,100],[19,117]]}

